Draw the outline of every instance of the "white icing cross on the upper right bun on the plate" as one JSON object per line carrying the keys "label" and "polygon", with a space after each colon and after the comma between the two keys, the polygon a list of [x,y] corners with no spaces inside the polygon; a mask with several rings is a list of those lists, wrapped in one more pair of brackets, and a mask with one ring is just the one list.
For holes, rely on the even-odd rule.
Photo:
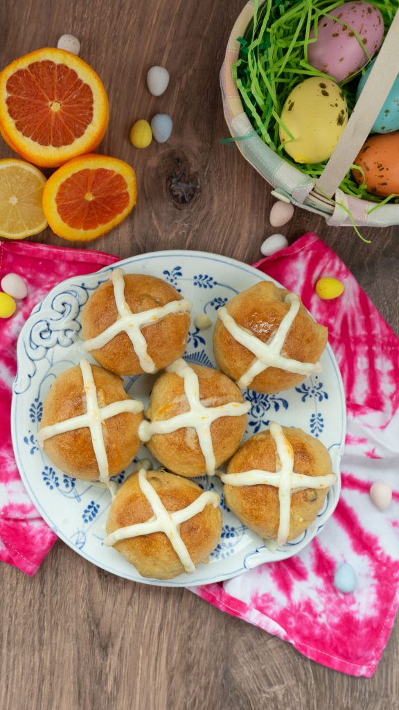
{"label": "white icing cross on the upper right bun on the plate", "polygon": [[281,354],[288,331],[292,326],[297,312],[300,310],[300,300],[295,293],[288,293],[285,302],[290,304],[290,310],[285,314],[278,329],[270,337],[267,343],[263,343],[256,335],[241,327],[229,314],[226,307],[219,308],[217,315],[224,324],[230,335],[246,349],[251,351],[256,358],[246,372],[239,378],[237,385],[241,390],[246,389],[254,378],[268,367],[277,367],[286,372],[294,372],[299,375],[310,375],[320,372],[322,366],[319,362],[300,362]]}

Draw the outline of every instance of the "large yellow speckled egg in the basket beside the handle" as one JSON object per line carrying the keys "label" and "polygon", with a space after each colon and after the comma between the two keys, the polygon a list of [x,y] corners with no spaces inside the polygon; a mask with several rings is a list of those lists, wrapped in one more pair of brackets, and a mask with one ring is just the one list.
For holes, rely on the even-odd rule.
{"label": "large yellow speckled egg in the basket beside the handle", "polygon": [[348,107],[336,82],[311,77],[290,93],[281,112],[280,141],[296,163],[322,163],[334,152],[348,122]]}

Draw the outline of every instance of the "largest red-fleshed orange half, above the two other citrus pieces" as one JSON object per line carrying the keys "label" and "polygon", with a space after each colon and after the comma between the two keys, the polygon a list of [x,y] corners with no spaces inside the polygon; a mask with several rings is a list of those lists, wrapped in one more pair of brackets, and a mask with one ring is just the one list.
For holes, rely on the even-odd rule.
{"label": "largest red-fleshed orange half, above the two other citrus pieces", "polygon": [[35,165],[54,168],[97,148],[108,125],[108,97],[86,62],[39,49],[0,73],[0,129]]}

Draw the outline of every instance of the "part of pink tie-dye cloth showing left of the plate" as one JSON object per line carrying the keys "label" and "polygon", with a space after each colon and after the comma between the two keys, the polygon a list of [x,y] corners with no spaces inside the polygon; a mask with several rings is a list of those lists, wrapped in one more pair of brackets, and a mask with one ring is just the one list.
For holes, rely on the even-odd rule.
{"label": "part of pink tie-dye cloth showing left of the plate", "polygon": [[16,315],[0,320],[0,560],[26,574],[37,572],[57,537],[28,498],[13,457],[10,410],[18,334],[36,303],[56,284],[114,261],[118,259],[98,251],[0,241],[0,280],[6,273],[19,273],[28,285]]}

